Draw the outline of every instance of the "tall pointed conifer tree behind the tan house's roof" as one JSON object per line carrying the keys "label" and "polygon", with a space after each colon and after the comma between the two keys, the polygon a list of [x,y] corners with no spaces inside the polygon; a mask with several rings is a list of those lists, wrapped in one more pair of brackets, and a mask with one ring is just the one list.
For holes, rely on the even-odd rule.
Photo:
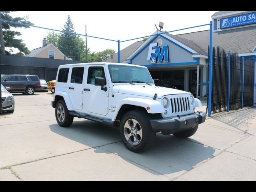
{"label": "tall pointed conifer tree behind the tan house's roof", "polygon": [[[85,49],[84,40],[75,34],[74,24],[68,15],[68,19],[64,24],[64,28],[62,29],[62,33],[58,38],[58,48],[61,52],[63,52],[66,56],[71,57],[73,60],[82,60],[82,53]],[[68,32],[68,33],[66,33]]]}

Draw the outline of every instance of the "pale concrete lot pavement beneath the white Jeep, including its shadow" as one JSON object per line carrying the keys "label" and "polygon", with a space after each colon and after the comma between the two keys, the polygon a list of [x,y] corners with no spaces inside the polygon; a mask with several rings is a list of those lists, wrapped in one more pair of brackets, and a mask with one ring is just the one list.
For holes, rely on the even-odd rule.
{"label": "pale concrete lot pavement beneath the white Jeep, including its shadow", "polygon": [[256,108],[208,118],[194,136],[157,134],[136,154],[118,128],[74,118],[58,126],[53,94],[14,94],[13,114],[0,114],[0,181],[256,180]]}

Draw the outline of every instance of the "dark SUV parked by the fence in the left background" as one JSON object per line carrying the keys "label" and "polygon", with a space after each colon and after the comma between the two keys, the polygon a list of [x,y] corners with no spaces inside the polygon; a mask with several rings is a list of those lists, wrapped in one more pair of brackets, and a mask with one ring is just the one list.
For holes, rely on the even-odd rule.
{"label": "dark SUV parked by the fence in the left background", "polygon": [[5,75],[1,77],[3,86],[10,87],[9,92],[34,94],[41,89],[40,80],[37,75]]}

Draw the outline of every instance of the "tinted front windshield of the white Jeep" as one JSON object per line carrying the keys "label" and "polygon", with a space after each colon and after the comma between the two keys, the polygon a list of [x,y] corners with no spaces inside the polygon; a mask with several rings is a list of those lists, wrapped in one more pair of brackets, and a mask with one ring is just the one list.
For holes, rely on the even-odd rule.
{"label": "tinted front windshield of the white Jeep", "polygon": [[147,68],[125,65],[108,65],[112,83],[138,82],[151,83],[153,80]]}

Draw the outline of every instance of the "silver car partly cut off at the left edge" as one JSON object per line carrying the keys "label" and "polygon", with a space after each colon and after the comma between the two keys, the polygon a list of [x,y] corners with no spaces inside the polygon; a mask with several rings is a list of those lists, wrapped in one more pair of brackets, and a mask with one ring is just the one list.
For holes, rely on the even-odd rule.
{"label": "silver car partly cut off at the left edge", "polygon": [[2,110],[8,113],[14,112],[14,96],[8,92],[10,87],[4,87],[1,84],[1,91],[2,91]]}

